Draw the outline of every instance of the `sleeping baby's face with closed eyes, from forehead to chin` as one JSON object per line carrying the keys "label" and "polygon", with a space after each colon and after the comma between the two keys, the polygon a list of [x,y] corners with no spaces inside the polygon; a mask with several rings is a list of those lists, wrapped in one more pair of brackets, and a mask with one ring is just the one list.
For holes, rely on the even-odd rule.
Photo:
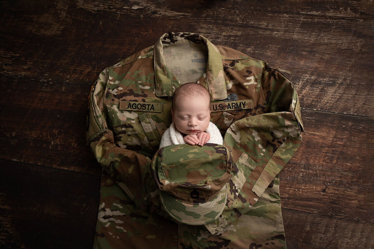
{"label": "sleeping baby's face with closed eyes, from forehead to chin", "polygon": [[210,112],[210,100],[207,97],[193,98],[181,95],[171,115],[178,131],[188,135],[206,131]]}

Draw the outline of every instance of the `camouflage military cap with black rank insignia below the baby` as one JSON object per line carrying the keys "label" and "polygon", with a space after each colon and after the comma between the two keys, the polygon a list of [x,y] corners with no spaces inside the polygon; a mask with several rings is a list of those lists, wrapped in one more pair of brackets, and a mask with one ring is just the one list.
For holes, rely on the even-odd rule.
{"label": "camouflage military cap with black rank insignia below the baby", "polygon": [[151,163],[166,212],[189,225],[206,224],[221,215],[231,170],[230,150],[217,144],[166,146]]}

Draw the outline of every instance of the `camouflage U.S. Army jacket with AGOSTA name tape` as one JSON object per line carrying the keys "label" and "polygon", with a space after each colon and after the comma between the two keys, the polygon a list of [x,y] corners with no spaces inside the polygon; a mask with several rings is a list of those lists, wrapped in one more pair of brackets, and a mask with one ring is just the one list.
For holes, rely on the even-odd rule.
{"label": "camouflage U.S. Army jacket with AGOSTA name tape", "polygon": [[[187,82],[211,93],[235,168],[220,218],[205,225],[168,217],[150,173]],[[162,35],[102,71],[90,94],[86,137],[104,169],[94,248],[286,248],[278,173],[301,131],[293,84],[266,62],[199,34]]]}

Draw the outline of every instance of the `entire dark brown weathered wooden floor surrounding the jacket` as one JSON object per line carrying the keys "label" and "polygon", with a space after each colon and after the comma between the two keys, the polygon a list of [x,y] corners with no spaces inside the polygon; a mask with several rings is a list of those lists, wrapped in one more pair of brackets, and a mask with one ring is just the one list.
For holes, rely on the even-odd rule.
{"label": "entire dark brown weathered wooden floor surrounding the jacket", "polygon": [[292,71],[306,132],[280,174],[288,248],[374,248],[372,0],[14,0],[0,9],[0,248],[92,248],[101,167],[85,144],[91,85],[168,31]]}

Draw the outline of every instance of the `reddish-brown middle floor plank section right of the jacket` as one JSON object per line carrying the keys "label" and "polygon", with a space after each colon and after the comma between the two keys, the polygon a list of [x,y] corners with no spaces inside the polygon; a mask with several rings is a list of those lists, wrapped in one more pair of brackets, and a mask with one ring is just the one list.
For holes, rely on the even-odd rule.
{"label": "reddish-brown middle floor plank section right of the jacket", "polygon": [[303,143],[280,173],[282,206],[373,224],[373,120],[303,115]]}

